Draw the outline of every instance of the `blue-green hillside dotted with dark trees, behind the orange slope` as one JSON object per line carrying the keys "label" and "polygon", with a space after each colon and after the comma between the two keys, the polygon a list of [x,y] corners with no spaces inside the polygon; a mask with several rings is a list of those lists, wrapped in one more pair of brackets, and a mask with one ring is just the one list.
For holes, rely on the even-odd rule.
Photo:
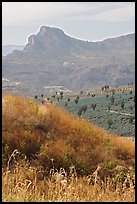
{"label": "blue-green hillside dotted with dark trees, behind the orange slope", "polygon": [[[101,91],[102,89],[103,91]],[[79,115],[89,122],[107,129],[112,134],[135,137],[134,119],[131,119],[135,117],[134,87],[129,85],[127,87],[116,87],[115,89],[102,87],[102,89],[100,91],[96,90],[95,94],[88,92],[88,96],[86,92],[82,92],[82,95],[79,95],[77,105],[74,102],[75,96],[69,96],[70,101],[67,107],[65,107],[65,97],[64,101],[56,103],[55,100],[54,102],[59,107],[65,107],[74,115]],[[95,96],[92,97],[92,95]],[[87,106],[85,112],[80,111],[82,106]],[[108,126],[108,118],[113,120],[111,128]]]}

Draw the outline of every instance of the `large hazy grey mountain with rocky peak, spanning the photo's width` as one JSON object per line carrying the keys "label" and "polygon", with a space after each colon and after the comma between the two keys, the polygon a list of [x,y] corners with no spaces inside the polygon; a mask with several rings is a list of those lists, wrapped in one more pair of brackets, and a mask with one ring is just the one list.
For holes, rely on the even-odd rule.
{"label": "large hazy grey mountain with rocky peak, spanning the photo's width", "polygon": [[42,26],[22,51],[4,57],[2,66],[2,77],[19,81],[26,92],[45,86],[80,91],[127,85],[135,81],[135,34],[89,42]]}

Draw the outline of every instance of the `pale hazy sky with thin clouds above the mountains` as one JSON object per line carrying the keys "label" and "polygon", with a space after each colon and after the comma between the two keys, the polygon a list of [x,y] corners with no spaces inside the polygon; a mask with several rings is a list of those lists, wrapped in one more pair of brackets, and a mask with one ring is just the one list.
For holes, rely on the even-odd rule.
{"label": "pale hazy sky with thin clouds above the mountains", "polygon": [[2,2],[2,44],[25,45],[41,26],[97,41],[135,32],[135,2]]}

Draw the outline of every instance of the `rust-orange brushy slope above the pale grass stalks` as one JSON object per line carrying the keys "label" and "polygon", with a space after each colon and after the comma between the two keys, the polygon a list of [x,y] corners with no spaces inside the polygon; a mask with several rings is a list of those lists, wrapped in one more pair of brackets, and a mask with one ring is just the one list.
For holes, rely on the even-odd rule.
{"label": "rust-orange brushy slope above the pale grass stalks", "polygon": [[17,149],[44,168],[91,173],[99,163],[134,164],[134,144],[88,123],[54,105],[41,106],[31,99],[3,96],[3,164]]}

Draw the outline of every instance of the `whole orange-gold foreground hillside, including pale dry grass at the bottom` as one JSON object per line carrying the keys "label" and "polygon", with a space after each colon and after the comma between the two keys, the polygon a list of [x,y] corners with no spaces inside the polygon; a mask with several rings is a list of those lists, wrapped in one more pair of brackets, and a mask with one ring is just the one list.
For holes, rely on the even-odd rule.
{"label": "whole orange-gold foreground hillside, including pale dry grass at the bottom", "polygon": [[[134,201],[133,186],[119,192],[119,186],[111,191],[105,181],[103,189],[85,182],[98,164],[134,168],[133,142],[54,105],[10,94],[2,99],[2,134],[3,201]],[[45,176],[53,165],[52,175]],[[76,175],[62,186],[56,176],[60,168],[66,175],[72,166]]]}

